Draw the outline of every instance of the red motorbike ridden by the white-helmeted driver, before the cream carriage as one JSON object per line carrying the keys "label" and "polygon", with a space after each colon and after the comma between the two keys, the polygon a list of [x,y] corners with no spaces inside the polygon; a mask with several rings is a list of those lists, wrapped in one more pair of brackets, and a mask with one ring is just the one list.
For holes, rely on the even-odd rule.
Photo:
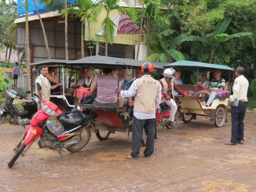
{"label": "red motorbike ridden by the white-helmeted driver, before the cream carriage", "polygon": [[[174,116],[174,125],[177,124],[178,119],[179,119],[179,113],[180,113],[180,105],[181,105],[181,101],[179,101],[179,99],[175,99],[175,103],[178,107],[175,116]],[[157,126],[162,126],[164,131],[165,131],[165,127],[167,127],[168,129],[171,129],[173,127],[168,125],[168,119],[169,119],[169,115],[170,115],[170,110],[171,108],[166,105],[165,103],[161,103],[159,105],[159,109],[157,109],[156,112],[156,121],[157,121]]]}

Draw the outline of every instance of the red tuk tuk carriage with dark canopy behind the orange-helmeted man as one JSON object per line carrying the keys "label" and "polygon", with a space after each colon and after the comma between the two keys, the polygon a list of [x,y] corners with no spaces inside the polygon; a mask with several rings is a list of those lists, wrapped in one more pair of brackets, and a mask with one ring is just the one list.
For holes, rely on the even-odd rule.
{"label": "red tuk tuk carriage with dark canopy behind the orange-helmeted man", "polygon": [[[84,69],[87,67],[94,67],[98,69],[113,68],[113,69],[128,69],[132,70],[140,68],[145,61],[131,60],[123,58],[105,57],[105,56],[91,56],[82,58],[80,60],[74,60],[68,63],[72,68]],[[163,69],[160,63],[153,63],[155,69]],[[119,73],[119,70],[118,70]],[[119,80],[117,85],[119,85]],[[118,96],[119,97],[119,96]],[[132,131],[132,114],[129,113],[128,107],[118,107],[118,98],[116,106],[97,106],[92,104],[76,103],[75,107],[80,108],[83,111],[91,111],[98,114],[98,117],[94,121],[94,129],[98,139],[108,139],[110,133]],[[156,139],[156,127],[155,123],[155,139]],[[146,134],[144,133],[141,143],[146,145]]]}

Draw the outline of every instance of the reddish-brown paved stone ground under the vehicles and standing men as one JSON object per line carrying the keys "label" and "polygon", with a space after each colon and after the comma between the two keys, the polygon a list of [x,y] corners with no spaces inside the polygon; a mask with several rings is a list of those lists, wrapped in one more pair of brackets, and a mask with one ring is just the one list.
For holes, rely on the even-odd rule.
{"label": "reddish-brown paved stone ground under the vehicles and standing men", "polygon": [[92,134],[81,152],[39,149],[37,144],[13,168],[7,163],[23,128],[0,126],[0,192],[255,192],[256,112],[245,117],[245,144],[230,140],[229,123],[215,128],[198,118],[174,129],[158,128],[152,159],[124,159],[132,139],[125,133],[99,141]]}

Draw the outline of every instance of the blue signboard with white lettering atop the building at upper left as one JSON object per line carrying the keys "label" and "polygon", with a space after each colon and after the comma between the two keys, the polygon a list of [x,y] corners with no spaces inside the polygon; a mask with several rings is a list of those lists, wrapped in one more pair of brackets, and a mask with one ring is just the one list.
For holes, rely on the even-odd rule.
{"label": "blue signboard with white lettering atop the building at upper left", "polygon": [[[17,0],[18,5],[18,17],[25,17],[25,1],[26,0]],[[33,0],[28,1],[28,16],[36,15],[36,10],[34,6]],[[39,4],[39,0],[35,0],[39,13],[47,13],[50,12],[50,9],[44,9],[45,4]],[[67,0],[67,6],[71,7],[76,4],[76,0]]]}

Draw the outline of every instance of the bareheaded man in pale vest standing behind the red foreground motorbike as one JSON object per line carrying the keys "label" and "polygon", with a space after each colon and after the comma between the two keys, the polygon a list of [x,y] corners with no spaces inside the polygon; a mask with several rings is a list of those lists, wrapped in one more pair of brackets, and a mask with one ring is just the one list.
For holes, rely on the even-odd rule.
{"label": "bareheaded man in pale vest standing behind the red foreground motorbike", "polygon": [[[35,92],[44,100],[49,101],[51,97],[51,89],[55,89],[58,86],[63,86],[63,83],[56,84],[51,86],[49,80],[47,79],[48,67],[40,66],[40,75],[35,79],[36,83],[39,83],[42,87],[41,91],[37,90],[37,86],[35,86]],[[38,105],[38,110],[40,109],[40,105]]]}

